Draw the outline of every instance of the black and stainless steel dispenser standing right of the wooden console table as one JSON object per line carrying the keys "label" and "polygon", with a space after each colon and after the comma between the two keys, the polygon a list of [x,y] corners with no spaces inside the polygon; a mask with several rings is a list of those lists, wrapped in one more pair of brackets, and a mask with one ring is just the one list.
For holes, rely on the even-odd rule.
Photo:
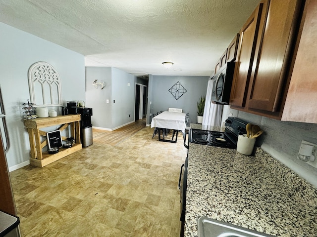
{"label": "black and stainless steel dispenser standing right of the wooden console table", "polygon": [[92,108],[77,108],[80,114],[80,140],[83,147],[88,147],[93,144],[93,125],[91,117],[93,116]]}

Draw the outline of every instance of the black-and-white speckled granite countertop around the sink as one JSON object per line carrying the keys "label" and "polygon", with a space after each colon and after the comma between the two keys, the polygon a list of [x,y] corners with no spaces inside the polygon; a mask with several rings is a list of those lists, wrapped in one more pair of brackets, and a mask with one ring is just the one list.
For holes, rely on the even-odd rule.
{"label": "black-and-white speckled granite countertop around the sink", "polygon": [[317,189],[261,148],[253,157],[190,143],[185,237],[197,237],[201,216],[273,236],[316,236]]}

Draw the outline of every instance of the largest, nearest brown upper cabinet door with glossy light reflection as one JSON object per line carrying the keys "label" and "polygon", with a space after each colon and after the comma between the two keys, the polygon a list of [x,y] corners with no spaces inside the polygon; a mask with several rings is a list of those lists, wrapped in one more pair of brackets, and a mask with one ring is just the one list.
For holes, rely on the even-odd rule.
{"label": "largest, nearest brown upper cabinet door with glossy light reflection", "polygon": [[[270,0],[268,17],[257,42],[248,107],[279,111],[289,71],[301,0]],[[282,9],[282,10],[281,10]]]}

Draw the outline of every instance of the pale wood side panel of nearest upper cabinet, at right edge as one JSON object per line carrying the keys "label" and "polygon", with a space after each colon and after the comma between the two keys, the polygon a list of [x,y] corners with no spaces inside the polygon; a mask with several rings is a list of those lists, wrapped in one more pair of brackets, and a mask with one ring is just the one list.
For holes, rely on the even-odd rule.
{"label": "pale wood side panel of nearest upper cabinet, at right edge", "polygon": [[305,8],[282,120],[317,123],[317,1],[307,1]]}

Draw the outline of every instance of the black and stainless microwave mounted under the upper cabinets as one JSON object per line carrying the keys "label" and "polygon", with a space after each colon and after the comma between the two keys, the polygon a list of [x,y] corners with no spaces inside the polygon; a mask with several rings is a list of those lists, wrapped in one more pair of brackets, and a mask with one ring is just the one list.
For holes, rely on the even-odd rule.
{"label": "black and stainless microwave mounted under the upper cabinets", "polygon": [[212,78],[211,101],[216,104],[228,105],[235,62],[228,62],[226,67],[217,72]]}

